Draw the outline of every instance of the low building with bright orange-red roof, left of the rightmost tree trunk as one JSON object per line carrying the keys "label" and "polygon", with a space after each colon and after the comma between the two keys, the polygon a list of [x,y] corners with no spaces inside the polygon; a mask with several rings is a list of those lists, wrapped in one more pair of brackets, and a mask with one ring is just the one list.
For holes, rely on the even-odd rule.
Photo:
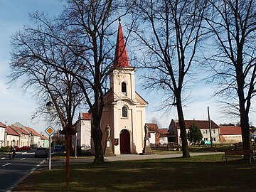
{"label": "low building with bright orange-red roof, left of the rightmost tree trunk", "polygon": [[239,126],[220,126],[221,143],[239,143],[242,142],[242,129]]}

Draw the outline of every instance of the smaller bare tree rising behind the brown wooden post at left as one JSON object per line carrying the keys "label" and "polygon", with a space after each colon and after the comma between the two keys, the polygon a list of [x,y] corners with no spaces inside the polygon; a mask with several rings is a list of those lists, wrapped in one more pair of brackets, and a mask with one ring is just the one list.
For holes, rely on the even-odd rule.
{"label": "smaller bare tree rising behind the brown wooden post at left", "polygon": [[[31,36],[33,36],[32,41]],[[31,31],[29,27],[25,27],[23,33],[18,32],[12,37],[13,51],[10,63],[12,73],[9,75],[9,82],[13,83],[21,79],[26,90],[28,88],[33,90],[33,95],[38,99],[40,106],[39,115],[43,114],[46,101],[50,97],[58,114],[53,117],[64,128],[67,124],[73,123],[76,109],[82,104],[83,95],[72,75],[60,73],[48,63],[70,65],[68,63],[74,63],[75,60],[63,48],[55,46],[54,50],[49,50],[49,42],[42,41],[43,38],[46,36]]]}

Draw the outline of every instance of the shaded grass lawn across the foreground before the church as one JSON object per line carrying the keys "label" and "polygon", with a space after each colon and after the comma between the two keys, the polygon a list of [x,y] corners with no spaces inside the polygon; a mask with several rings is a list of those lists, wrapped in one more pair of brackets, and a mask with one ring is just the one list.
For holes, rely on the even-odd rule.
{"label": "shaded grass lawn across the foreground before the church", "polygon": [[221,156],[77,164],[68,189],[65,167],[34,171],[13,191],[256,191],[256,164]]}

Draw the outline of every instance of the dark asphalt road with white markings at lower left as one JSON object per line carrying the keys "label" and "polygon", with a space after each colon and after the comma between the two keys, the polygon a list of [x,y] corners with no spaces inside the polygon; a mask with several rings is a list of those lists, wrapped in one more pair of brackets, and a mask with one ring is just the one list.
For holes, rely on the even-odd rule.
{"label": "dark asphalt road with white markings at lower left", "polygon": [[45,158],[34,158],[34,152],[19,152],[14,159],[9,154],[0,154],[0,191],[9,191],[31,171],[48,166]]}

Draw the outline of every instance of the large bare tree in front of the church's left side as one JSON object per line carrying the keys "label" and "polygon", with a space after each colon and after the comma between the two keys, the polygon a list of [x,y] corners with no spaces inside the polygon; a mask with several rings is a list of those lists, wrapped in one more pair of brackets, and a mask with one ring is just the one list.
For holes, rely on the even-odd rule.
{"label": "large bare tree in front of the church's left side", "polygon": [[[114,38],[112,23],[119,14],[119,1],[69,0],[63,14],[50,20],[45,14],[31,15],[36,28],[25,28],[31,41],[23,42],[18,50],[19,60],[28,57],[37,63],[50,65],[60,73],[75,78],[76,85],[85,96],[92,114],[92,139],[95,146],[95,162],[104,161],[100,127],[104,95],[107,90],[107,76],[114,60]],[[124,13],[125,14],[125,13]],[[36,34],[36,36],[34,35]],[[38,51],[31,48],[31,42],[38,41]],[[42,46],[45,45],[45,46]],[[70,55],[70,62],[63,65],[58,57],[49,58],[58,49]],[[68,124],[70,125],[70,124]],[[66,126],[67,127],[67,126]]]}

